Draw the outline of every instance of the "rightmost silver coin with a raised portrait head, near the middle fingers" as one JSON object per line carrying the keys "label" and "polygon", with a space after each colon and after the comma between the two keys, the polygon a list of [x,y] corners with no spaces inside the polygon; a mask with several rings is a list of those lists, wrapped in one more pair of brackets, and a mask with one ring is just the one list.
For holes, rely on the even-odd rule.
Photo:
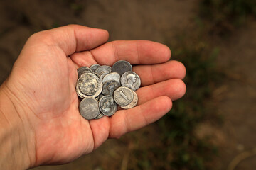
{"label": "rightmost silver coin with a raised portrait head, near the middle fingers", "polygon": [[135,72],[125,72],[121,77],[122,86],[126,86],[133,91],[139,89],[141,85],[141,80]]}

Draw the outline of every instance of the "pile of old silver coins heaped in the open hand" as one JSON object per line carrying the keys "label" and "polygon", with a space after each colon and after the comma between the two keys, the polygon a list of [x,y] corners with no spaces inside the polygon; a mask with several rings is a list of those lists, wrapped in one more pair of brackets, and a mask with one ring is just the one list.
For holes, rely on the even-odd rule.
{"label": "pile of old silver coins heaped in the open hand", "polygon": [[121,108],[133,108],[138,103],[135,93],[141,80],[132,72],[132,64],[119,60],[112,67],[93,64],[78,69],[76,91],[82,101],[79,111],[87,120],[112,116]]}

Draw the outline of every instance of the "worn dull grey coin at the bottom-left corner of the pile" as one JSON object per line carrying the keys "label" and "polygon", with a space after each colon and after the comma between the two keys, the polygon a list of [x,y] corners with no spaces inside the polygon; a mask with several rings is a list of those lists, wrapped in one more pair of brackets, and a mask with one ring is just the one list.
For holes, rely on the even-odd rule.
{"label": "worn dull grey coin at the bottom-left corner of the pile", "polygon": [[95,98],[85,98],[80,102],[79,111],[85,119],[94,119],[100,115],[99,103]]}

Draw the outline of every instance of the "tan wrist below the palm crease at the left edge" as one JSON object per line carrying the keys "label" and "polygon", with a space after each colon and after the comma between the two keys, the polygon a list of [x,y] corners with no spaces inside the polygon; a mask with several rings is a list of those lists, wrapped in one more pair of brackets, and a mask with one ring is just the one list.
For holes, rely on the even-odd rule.
{"label": "tan wrist below the palm crease at the left edge", "polygon": [[28,169],[36,162],[34,133],[23,109],[5,83],[0,86],[0,166]]}

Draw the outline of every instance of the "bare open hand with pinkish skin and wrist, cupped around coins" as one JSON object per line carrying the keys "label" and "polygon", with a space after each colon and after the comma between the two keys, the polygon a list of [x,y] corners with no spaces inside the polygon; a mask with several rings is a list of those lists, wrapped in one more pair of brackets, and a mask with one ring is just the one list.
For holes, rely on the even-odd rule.
{"label": "bare open hand with pinkish skin and wrist, cupped around coins", "polygon": [[[185,94],[185,67],[169,61],[168,47],[146,40],[107,42],[108,36],[106,30],[72,25],[28,39],[0,88],[1,169],[71,162],[108,138],[159,120]],[[117,60],[137,64],[138,106],[85,120],[78,110],[76,69]]]}

